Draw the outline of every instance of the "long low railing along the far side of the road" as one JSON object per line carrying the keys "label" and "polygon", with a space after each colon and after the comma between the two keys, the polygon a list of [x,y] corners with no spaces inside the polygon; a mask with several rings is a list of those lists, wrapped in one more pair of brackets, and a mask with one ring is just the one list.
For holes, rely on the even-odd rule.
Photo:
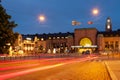
{"label": "long low railing along the far side of the road", "polygon": [[1,56],[0,61],[12,61],[12,60],[31,60],[41,58],[65,58],[65,57],[82,57],[81,55],[74,54],[39,54],[39,55],[27,55],[27,56]]}

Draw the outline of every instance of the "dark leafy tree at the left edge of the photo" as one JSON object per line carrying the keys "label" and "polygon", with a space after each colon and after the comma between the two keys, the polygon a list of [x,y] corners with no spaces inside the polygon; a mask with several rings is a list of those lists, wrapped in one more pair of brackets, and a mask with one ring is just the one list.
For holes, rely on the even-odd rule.
{"label": "dark leafy tree at the left edge of the photo", "polygon": [[14,44],[17,38],[17,34],[13,32],[13,28],[17,24],[10,19],[11,16],[0,4],[0,54],[8,53],[9,47]]}

